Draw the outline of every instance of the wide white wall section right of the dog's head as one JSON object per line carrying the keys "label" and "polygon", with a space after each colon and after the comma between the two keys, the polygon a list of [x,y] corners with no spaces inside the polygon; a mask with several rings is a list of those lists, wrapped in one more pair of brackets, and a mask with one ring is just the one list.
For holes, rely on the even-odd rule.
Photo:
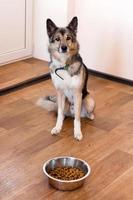
{"label": "wide white wall section right of the dog's head", "polygon": [[133,80],[133,1],[76,0],[87,67]]}

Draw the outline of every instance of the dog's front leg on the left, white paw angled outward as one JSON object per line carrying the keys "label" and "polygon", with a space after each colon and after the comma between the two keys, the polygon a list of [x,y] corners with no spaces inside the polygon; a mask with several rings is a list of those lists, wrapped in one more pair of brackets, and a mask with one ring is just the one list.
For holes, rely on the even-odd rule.
{"label": "dog's front leg on the left, white paw angled outward", "polygon": [[64,120],[65,95],[61,91],[58,91],[57,98],[58,98],[58,115],[57,115],[56,126],[51,131],[52,135],[57,135],[61,131]]}

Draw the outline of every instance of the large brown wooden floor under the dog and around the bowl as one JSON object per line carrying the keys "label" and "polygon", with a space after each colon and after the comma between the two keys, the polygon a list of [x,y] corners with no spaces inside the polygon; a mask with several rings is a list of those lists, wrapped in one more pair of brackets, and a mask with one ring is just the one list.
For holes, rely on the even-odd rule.
{"label": "large brown wooden floor under the dog and around the bowl", "polygon": [[[55,93],[51,80],[0,97],[1,200],[132,200],[133,88],[91,76],[95,121],[82,120],[84,138],[73,137],[73,120],[60,135],[50,130],[56,117],[36,106],[40,96]],[[86,160],[91,175],[72,192],[49,186],[43,163],[69,155]]]}

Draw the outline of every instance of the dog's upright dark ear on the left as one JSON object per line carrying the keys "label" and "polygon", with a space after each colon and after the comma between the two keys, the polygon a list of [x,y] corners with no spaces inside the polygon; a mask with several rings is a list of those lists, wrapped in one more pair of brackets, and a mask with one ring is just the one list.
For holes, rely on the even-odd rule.
{"label": "dog's upright dark ear on the left", "polygon": [[55,31],[57,30],[57,26],[51,19],[47,19],[46,21],[47,33],[48,36],[51,37]]}

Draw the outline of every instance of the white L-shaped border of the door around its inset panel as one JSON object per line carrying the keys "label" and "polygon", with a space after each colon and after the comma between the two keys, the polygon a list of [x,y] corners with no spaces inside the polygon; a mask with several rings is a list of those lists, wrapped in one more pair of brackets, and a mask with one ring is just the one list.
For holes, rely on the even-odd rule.
{"label": "white L-shaped border of the door around its inset panel", "polygon": [[0,54],[0,65],[32,57],[33,1],[25,0],[25,47]]}

